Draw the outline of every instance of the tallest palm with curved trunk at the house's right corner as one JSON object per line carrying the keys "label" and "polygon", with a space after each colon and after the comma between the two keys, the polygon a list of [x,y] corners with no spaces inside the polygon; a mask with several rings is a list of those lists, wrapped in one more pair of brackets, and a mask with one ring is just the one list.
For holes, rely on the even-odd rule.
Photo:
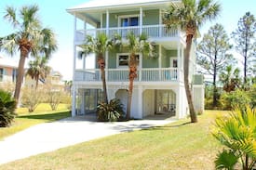
{"label": "tallest palm with curved trunk at the house's right corner", "polygon": [[200,28],[207,20],[215,19],[220,13],[220,9],[220,5],[213,3],[213,0],[182,0],[181,5],[172,3],[169,9],[164,11],[164,24],[166,24],[168,28],[173,25],[180,26],[186,33],[186,48],[183,61],[184,85],[192,123],[197,122],[188,81],[192,40],[196,37],[198,28]]}

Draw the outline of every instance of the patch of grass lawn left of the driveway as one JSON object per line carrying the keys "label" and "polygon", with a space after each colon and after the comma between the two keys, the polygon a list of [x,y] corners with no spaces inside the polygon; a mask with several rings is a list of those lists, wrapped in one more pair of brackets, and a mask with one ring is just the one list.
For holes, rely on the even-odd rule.
{"label": "patch of grass lawn left of the driveway", "polygon": [[12,125],[0,128],[0,140],[34,124],[53,122],[71,115],[65,104],[60,104],[57,111],[51,111],[48,104],[42,103],[34,112],[29,112],[27,108],[19,108],[16,112],[18,116]]}

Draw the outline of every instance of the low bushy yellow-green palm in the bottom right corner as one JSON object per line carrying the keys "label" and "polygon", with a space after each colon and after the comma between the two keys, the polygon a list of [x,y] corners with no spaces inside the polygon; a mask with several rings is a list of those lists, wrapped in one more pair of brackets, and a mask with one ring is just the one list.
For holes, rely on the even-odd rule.
{"label": "low bushy yellow-green palm in the bottom right corner", "polygon": [[216,119],[212,134],[225,149],[218,154],[216,169],[234,169],[242,163],[243,170],[256,163],[256,110],[243,106],[230,116]]}

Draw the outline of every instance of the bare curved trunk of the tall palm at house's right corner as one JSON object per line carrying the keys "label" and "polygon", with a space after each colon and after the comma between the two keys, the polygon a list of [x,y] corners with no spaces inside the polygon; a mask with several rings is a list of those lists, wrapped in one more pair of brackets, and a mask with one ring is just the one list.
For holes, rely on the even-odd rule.
{"label": "bare curved trunk of the tall palm at house's right corner", "polygon": [[186,36],[186,49],[185,49],[185,56],[184,56],[184,85],[185,85],[185,91],[186,91],[186,97],[187,102],[189,106],[189,112],[190,112],[190,118],[192,123],[197,122],[197,117],[195,114],[195,109],[192,102],[192,95],[191,90],[189,87],[189,81],[188,81],[188,73],[189,73],[189,59],[190,59],[190,50],[192,45],[192,34],[188,34]]}

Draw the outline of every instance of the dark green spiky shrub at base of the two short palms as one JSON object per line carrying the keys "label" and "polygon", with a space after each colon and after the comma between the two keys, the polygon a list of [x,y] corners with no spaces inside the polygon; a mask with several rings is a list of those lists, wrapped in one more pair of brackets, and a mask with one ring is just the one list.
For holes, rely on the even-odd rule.
{"label": "dark green spiky shrub at base of the two short palms", "polygon": [[123,104],[117,98],[110,100],[109,104],[101,102],[97,107],[97,117],[102,122],[115,122],[123,115]]}

